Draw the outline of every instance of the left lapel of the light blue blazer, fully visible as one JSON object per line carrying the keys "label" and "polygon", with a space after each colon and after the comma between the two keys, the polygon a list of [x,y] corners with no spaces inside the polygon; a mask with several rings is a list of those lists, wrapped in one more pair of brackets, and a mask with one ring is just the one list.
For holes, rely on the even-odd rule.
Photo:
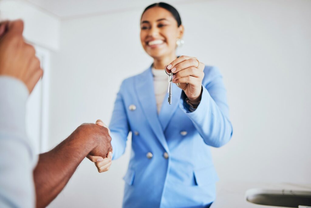
{"label": "left lapel of the light blue blazer, fully visible", "polygon": [[156,96],[154,94],[151,67],[149,67],[149,69],[144,71],[141,75],[136,76],[135,88],[138,100],[142,106],[143,112],[145,113],[153,132],[159,139],[162,146],[165,148],[166,152],[169,152],[165,135],[163,133],[163,129],[157,114]]}

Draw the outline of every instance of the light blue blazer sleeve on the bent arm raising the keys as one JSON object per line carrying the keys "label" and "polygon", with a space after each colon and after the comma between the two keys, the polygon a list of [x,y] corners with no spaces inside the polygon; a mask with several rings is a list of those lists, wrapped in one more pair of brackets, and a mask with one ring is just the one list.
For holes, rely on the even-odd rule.
{"label": "light blue blazer sleeve on the bent arm raising the keys", "polygon": [[220,72],[215,67],[206,66],[202,82],[202,98],[197,109],[189,111],[186,94],[182,91],[179,107],[192,120],[204,142],[212,147],[221,147],[232,136],[229,120],[226,89]]}

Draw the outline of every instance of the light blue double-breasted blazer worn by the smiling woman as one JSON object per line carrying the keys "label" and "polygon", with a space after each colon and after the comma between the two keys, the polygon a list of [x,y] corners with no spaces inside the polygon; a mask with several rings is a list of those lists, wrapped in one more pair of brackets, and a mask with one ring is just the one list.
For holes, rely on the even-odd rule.
{"label": "light blue double-breasted blazer worn by the smiling woman", "polygon": [[205,66],[201,103],[189,111],[184,92],[173,84],[157,113],[151,67],[123,81],[111,123],[113,159],[132,152],[124,177],[123,207],[208,207],[218,180],[210,147],[232,135],[226,90],[220,72]]}

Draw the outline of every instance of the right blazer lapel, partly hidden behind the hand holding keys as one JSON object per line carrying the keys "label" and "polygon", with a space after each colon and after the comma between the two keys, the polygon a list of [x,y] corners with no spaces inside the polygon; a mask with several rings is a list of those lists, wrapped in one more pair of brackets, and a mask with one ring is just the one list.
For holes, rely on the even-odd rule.
{"label": "right blazer lapel, partly hidden behind the hand holding keys", "polygon": [[172,104],[169,104],[168,102],[168,94],[165,96],[165,99],[163,100],[162,107],[159,114],[159,119],[162,125],[163,131],[165,131],[169,121],[172,119],[172,116],[174,115],[175,111],[177,110],[177,107],[179,106],[180,101],[180,95],[182,92],[182,89],[177,87],[176,84],[172,83]]}

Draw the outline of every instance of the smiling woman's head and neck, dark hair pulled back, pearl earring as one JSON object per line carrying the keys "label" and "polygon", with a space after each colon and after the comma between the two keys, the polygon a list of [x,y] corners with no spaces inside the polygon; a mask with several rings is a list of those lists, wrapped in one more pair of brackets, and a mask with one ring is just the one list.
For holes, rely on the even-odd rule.
{"label": "smiling woman's head and neck, dark hair pulled back, pearl earring", "polygon": [[177,10],[166,3],[148,6],[141,17],[140,39],[144,50],[155,59],[154,68],[176,59],[176,40],[183,36],[183,25]]}

